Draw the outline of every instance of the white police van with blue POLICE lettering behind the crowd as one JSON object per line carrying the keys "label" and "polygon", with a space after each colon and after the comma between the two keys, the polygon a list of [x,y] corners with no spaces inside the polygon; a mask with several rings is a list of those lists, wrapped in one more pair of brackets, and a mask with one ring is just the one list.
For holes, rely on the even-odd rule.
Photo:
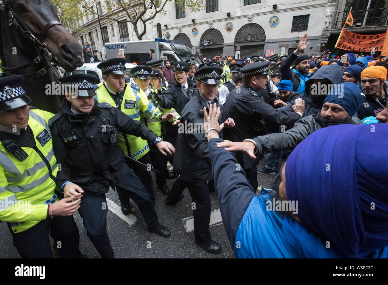
{"label": "white police van with blue POLICE lettering behind the crowd", "polygon": [[203,62],[198,51],[191,44],[183,41],[156,38],[154,40],[106,43],[104,44],[105,58],[112,59],[117,57],[120,49],[124,50],[126,62],[136,62],[137,65],[145,64],[145,62],[150,60],[150,50],[152,52],[152,59],[164,57],[164,59],[173,61],[185,61],[194,57],[197,68]]}

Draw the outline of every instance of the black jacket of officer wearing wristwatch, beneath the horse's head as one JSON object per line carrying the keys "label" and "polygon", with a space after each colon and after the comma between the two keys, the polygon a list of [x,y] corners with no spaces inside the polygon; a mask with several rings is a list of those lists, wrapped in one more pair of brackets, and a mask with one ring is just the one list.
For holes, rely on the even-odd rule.
{"label": "black jacket of officer wearing wristwatch, beneath the horse's head", "polygon": [[119,180],[124,161],[123,150],[109,138],[109,125],[116,139],[118,131],[151,142],[157,135],[107,103],[95,100],[92,111],[80,115],[74,115],[70,107],[65,98],[62,110],[49,120],[59,164],[57,185],[71,181],[85,191],[84,197],[105,193]]}

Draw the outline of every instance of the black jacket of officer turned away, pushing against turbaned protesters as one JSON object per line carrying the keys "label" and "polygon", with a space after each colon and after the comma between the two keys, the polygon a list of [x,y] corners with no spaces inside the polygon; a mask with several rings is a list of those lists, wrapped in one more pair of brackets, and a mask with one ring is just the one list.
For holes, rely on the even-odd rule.
{"label": "black jacket of officer turned away, pushing against turbaned protesters", "polygon": [[[270,125],[276,127],[280,125],[293,125],[301,118],[297,113],[274,109],[274,107],[265,103],[251,86],[245,83],[241,86],[240,92],[237,93],[237,91],[237,88],[232,90],[226,98],[225,104],[223,104],[223,120],[231,117],[236,124],[234,128],[228,128],[223,131],[225,140],[242,142],[246,138],[254,138],[264,134],[262,130],[255,128],[256,123],[253,122],[253,117],[250,116],[253,110],[261,112],[267,127]],[[241,155],[243,156],[245,169],[253,168],[259,162],[259,157],[253,160],[245,153],[236,152],[235,154],[236,159],[239,161],[241,161]]]}

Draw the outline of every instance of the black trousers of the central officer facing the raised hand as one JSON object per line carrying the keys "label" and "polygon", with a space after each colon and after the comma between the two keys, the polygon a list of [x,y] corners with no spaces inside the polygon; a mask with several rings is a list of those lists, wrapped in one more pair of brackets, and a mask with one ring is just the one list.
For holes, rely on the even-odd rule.
{"label": "black trousers of the central officer facing the raised hand", "polygon": [[[213,181],[209,181],[209,183],[213,183]],[[195,208],[193,209],[194,237],[197,242],[207,244],[211,241],[209,231],[211,200],[208,183],[184,181],[178,177],[171,188],[171,192],[174,190],[174,187],[175,192],[178,192],[178,189],[185,189],[186,187],[189,189],[191,200],[195,203]],[[180,192],[180,194],[182,194],[182,192]],[[170,195],[168,195],[168,197],[170,197]]]}

